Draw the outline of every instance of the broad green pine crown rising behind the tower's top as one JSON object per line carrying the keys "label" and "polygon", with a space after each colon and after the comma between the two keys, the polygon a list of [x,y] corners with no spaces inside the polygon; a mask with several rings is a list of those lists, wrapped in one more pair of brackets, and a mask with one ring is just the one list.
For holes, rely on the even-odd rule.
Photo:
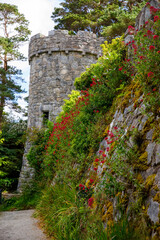
{"label": "broad green pine crown rising behind the tower's top", "polygon": [[[55,8],[51,18],[57,23],[55,29],[92,31],[108,37],[121,36],[134,24],[142,8],[142,0],[65,0]],[[110,37],[111,36],[111,37]]]}

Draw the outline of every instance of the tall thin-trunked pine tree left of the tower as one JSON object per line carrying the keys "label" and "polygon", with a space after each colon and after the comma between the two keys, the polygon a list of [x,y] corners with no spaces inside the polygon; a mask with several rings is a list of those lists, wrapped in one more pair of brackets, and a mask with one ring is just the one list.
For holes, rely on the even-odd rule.
{"label": "tall thin-trunked pine tree left of the tower", "polygon": [[25,59],[19,47],[28,40],[28,23],[17,6],[0,3],[0,129],[5,105],[12,103],[15,107],[16,94],[23,92],[17,83],[22,80],[21,71],[9,65],[9,62]]}

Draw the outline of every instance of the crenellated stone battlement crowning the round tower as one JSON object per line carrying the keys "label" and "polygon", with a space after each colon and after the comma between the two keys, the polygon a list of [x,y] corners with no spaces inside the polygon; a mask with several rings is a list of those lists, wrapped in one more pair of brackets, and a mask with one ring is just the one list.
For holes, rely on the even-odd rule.
{"label": "crenellated stone battlement crowning the round tower", "polygon": [[48,36],[36,34],[31,37],[29,44],[29,62],[34,56],[52,52],[80,52],[82,55],[101,55],[100,45],[104,38],[98,38],[96,34],[78,31],[76,35],[69,35],[67,30],[52,30]]}

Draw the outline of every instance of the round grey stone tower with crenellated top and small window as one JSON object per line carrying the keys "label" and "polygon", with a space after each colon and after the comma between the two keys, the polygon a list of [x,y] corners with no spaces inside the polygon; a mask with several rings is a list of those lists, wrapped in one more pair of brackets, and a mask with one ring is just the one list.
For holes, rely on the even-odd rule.
{"label": "round grey stone tower with crenellated top and small window", "polygon": [[[74,89],[75,78],[101,55],[100,45],[103,42],[104,38],[85,31],[69,35],[66,30],[54,30],[47,37],[37,34],[31,38],[28,128],[42,128],[44,120],[55,120],[63,99]],[[26,159],[29,148],[27,141],[19,191],[33,175]]]}

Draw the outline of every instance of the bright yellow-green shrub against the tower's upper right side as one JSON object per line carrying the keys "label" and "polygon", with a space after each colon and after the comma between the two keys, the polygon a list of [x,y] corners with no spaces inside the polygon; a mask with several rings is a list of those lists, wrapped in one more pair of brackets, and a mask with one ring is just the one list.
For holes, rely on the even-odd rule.
{"label": "bright yellow-green shrub against the tower's upper right side", "polygon": [[[86,72],[82,73],[79,78],[75,80],[75,87],[79,90],[86,90],[90,87],[92,79],[96,78],[100,83],[105,85],[104,94],[115,96],[116,88],[120,84],[127,82],[127,76],[118,71],[119,65],[126,55],[126,47],[123,38],[113,39],[112,43],[108,44],[106,41],[102,44],[103,56],[100,57],[96,64],[92,64]],[[99,86],[101,92],[101,85]]]}

